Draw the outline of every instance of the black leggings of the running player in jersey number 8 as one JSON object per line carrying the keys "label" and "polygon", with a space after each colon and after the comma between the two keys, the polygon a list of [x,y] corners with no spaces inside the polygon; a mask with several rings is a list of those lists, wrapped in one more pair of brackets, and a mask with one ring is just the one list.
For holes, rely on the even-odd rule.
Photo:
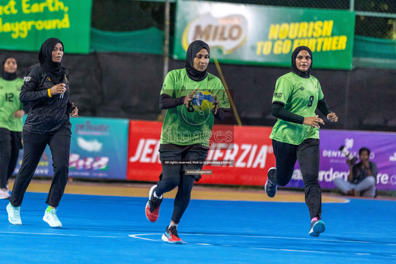
{"label": "black leggings of the running player in jersey number 8", "polygon": [[285,186],[291,180],[298,160],[305,186],[305,203],[311,219],[321,218],[322,192],[319,185],[319,139],[306,139],[299,145],[272,140],[276,159],[276,174],[272,183]]}

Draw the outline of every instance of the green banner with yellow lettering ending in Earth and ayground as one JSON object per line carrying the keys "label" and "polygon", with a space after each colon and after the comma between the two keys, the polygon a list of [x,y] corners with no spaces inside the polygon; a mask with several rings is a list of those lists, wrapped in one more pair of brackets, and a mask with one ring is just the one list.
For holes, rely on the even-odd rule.
{"label": "green banner with yellow lettering ending in Earth and ayground", "polygon": [[59,38],[66,53],[89,53],[92,0],[0,0],[0,49],[38,51]]}

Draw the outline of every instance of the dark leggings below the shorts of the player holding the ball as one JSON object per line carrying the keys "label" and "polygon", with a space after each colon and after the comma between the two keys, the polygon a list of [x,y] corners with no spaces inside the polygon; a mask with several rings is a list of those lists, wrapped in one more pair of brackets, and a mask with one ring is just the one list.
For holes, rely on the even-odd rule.
{"label": "dark leggings below the shorts of the player holding the ball", "polygon": [[190,203],[191,190],[194,185],[194,181],[194,175],[184,175],[183,172],[183,177],[162,179],[157,182],[155,193],[158,197],[179,186],[175,197],[175,203],[173,205],[173,214],[171,219],[176,224],[180,222],[184,211],[187,209],[188,203]]}

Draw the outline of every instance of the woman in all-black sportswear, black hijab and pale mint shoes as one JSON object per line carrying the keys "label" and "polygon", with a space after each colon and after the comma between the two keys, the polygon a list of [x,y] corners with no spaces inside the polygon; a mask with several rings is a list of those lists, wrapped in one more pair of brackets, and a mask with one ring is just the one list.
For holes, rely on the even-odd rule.
{"label": "woman in all-black sportswear, black hijab and pale mint shoes", "polygon": [[63,43],[49,38],[40,48],[40,62],[25,74],[19,98],[22,103],[30,102],[31,108],[22,131],[23,161],[7,205],[11,224],[22,224],[19,216],[22,199],[48,144],[54,173],[43,220],[51,227],[62,227],[55,207],[62,198],[69,174],[69,117],[78,116],[77,107],[69,100],[69,72],[61,66],[62,57]]}

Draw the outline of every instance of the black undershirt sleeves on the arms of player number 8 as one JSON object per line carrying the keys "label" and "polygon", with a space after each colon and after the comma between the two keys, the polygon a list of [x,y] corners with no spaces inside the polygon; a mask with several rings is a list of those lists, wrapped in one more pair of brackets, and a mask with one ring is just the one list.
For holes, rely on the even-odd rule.
{"label": "black undershirt sleeves on the arms of player number 8", "polygon": [[[328,114],[331,113],[331,110],[326,102],[326,99],[324,99],[324,98],[322,100],[318,101],[317,108],[326,117]],[[292,123],[297,123],[297,124],[302,124],[304,122],[303,116],[293,114],[292,112],[286,110],[284,107],[284,104],[280,103],[280,102],[272,103],[271,114],[273,116],[275,116],[276,118],[279,118],[279,119],[287,121],[287,122],[292,122]]]}

